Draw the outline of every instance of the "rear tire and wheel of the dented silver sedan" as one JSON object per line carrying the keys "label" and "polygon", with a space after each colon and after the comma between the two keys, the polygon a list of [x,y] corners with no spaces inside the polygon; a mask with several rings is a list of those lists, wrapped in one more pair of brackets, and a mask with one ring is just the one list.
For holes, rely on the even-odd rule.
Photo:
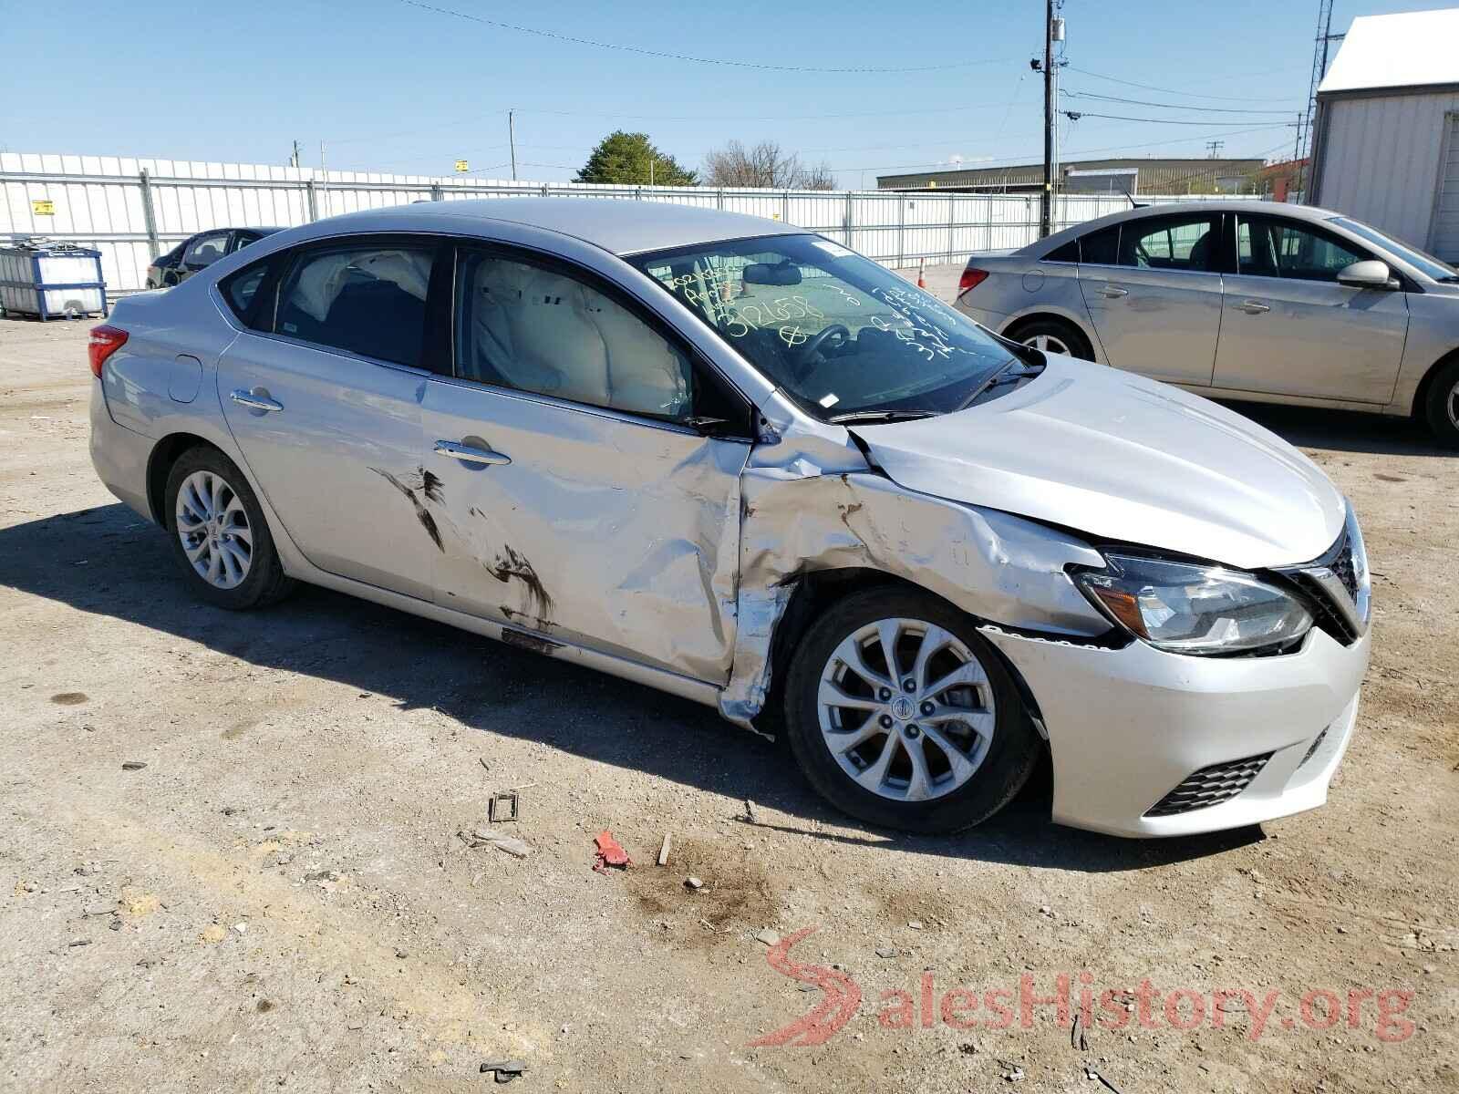
{"label": "rear tire and wheel of the dented silver sedan", "polygon": [[163,497],[172,553],[197,597],[242,611],[293,589],[248,480],[216,448],[178,457]]}

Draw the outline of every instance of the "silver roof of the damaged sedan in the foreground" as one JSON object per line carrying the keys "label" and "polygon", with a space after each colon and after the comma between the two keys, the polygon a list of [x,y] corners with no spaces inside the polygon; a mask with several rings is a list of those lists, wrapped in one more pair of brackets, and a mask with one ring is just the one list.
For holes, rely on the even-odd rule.
{"label": "silver roof of the damaged sedan in the foreground", "polygon": [[464,201],[416,201],[409,206],[372,209],[317,222],[333,230],[388,232],[410,222],[411,230],[460,232],[463,222],[511,222],[569,235],[617,255],[664,251],[676,247],[744,239],[760,235],[804,235],[805,229],[778,220],[718,209],[587,197],[508,197]]}

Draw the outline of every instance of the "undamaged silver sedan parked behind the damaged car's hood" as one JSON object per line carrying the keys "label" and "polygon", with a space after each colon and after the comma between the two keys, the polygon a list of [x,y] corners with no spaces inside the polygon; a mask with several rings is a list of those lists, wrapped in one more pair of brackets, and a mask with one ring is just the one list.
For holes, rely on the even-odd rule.
{"label": "undamaged silver sedan parked behind the damaged car's hood", "polygon": [[1459,273],[1323,209],[1115,213],[973,255],[957,309],[1202,395],[1414,416],[1459,448]]}

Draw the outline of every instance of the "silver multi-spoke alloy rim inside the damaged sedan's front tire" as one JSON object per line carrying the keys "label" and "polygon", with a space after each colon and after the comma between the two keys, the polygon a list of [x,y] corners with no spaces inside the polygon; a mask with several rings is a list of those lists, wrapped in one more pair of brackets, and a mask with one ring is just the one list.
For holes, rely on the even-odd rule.
{"label": "silver multi-spoke alloy rim inside the damaged sedan's front tire", "polygon": [[821,671],[817,713],[840,769],[902,802],[964,786],[988,757],[996,723],[978,656],[915,618],[883,618],[848,635]]}

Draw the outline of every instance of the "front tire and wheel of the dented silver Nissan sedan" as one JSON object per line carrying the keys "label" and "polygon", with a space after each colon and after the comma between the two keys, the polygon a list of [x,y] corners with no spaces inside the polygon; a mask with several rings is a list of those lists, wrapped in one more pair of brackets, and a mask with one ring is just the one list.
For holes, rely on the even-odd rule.
{"label": "front tire and wheel of the dented silver Nissan sedan", "polygon": [[854,594],[811,626],[785,686],[805,777],[852,817],[944,833],[1001,810],[1042,745],[972,620],[915,589]]}

